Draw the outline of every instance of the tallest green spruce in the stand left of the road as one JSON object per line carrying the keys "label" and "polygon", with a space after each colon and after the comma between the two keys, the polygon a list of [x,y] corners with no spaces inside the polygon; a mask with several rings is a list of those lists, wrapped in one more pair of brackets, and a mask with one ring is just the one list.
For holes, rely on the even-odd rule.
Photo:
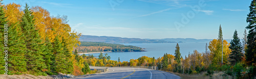
{"label": "tallest green spruce in the stand left of the road", "polygon": [[44,47],[41,44],[42,41],[38,34],[38,30],[35,29],[33,18],[34,16],[32,15],[28,4],[26,4],[22,22],[20,24],[25,35],[25,45],[28,49],[25,55],[28,59],[27,69],[40,75],[41,70],[46,68],[42,56],[44,55],[44,53],[42,53]]}

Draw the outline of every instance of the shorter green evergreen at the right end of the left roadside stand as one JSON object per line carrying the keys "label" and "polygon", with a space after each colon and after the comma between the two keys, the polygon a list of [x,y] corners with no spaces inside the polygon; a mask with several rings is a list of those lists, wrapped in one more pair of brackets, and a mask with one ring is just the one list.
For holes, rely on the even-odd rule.
{"label": "shorter green evergreen at the right end of the left roadside stand", "polygon": [[54,65],[52,66],[54,67],[54,72],[66,73],[65,55],[63,53],[62,44],[59,42],[58,35],[54,38],[52,45],[53,57],[55,58]]}

